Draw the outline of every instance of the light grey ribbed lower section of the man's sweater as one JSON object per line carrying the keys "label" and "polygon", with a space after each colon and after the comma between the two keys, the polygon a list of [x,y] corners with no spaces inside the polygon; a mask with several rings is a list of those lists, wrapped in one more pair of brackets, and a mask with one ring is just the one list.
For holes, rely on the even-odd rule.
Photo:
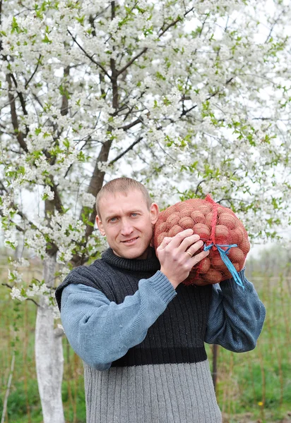
{"label": "light grey ribbed lower section of the man's sweater", "polygon": [[87,423],[221,423],[208,361],[85,369]]}

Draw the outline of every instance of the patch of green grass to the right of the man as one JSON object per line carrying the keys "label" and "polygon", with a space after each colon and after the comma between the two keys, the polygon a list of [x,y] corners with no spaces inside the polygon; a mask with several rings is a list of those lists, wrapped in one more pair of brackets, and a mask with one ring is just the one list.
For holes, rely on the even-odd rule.
{"label": "patch of green grass to the right of the man", "polygon": [[[262,281],[258,290],[267,314],[255,350],[241,354],[218,350],[217,396],[225,422],[244,421],[245,413],[251,416],[246,422],[280,422],[290,412],[290,294],[284,281],[273,286]],[[208,358],[211,363],[210,347]]]}

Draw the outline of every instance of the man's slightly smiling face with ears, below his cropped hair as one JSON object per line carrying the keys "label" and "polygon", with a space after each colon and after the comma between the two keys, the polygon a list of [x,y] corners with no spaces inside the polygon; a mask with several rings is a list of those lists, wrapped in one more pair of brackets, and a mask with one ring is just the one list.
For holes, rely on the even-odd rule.
{"label": "man's slightly smiling face with ears, below his cropped hair", "polygon": [[100,199],[98,228],[106,235],[115,255],[126,259],[146,259],[158,220],[158,205],[148,209],[139,190],[107,194]]}

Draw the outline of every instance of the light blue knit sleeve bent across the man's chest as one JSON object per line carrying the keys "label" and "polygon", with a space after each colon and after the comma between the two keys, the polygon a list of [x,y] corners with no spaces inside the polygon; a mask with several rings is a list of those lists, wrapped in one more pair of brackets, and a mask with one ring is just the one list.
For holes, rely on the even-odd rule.
{"label": "light blue knit sleeve bent across the man's chest", "polygon": [[61,323],[73,350],[84,362],[105,370],[143,341],[148,328],[175,295],[160,271],[141,279],[136,293],[119,305],[95,288],[71,284],[61,295]]}

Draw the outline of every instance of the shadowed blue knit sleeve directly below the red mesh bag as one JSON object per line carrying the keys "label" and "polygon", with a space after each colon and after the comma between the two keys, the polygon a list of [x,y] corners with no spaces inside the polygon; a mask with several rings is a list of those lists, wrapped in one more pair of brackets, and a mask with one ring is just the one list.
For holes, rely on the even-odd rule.
{"label": "shadowed blue knit sleeve directly below the red mesh bag", "polygon": [[227,279],[213,285],[213,298],[206,329],[206,343],[222,345],[235,353],[256,347],[266,316],[266,309],[254,285],[239,272],[244,290]]}

